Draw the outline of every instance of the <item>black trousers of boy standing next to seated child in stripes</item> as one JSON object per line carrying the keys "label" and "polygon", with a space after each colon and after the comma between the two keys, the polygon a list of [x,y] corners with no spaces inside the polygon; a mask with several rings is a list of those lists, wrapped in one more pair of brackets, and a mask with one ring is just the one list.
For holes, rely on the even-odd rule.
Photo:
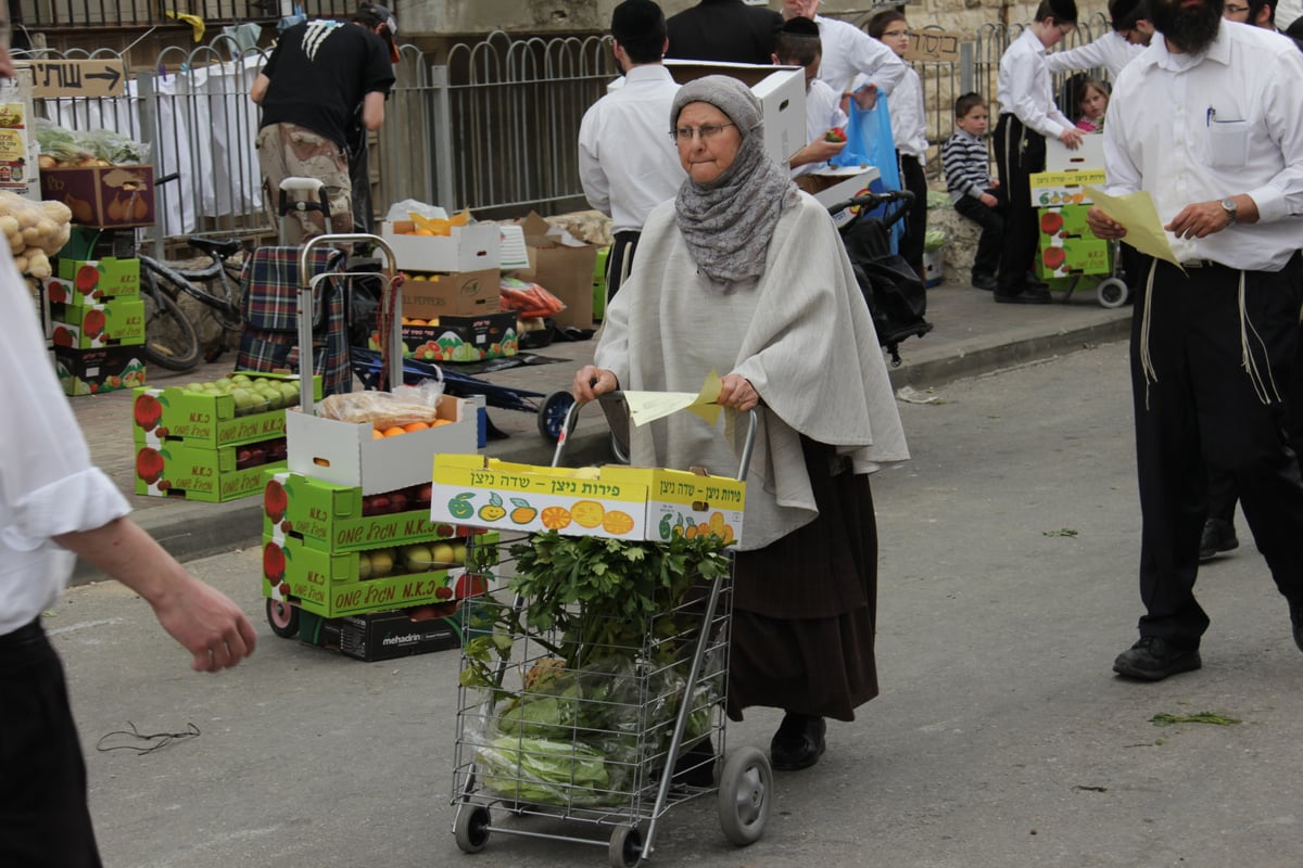
{"label": "black trousers of boy standing next to seated child in stripes", "polygon": [[1045,137],[1023,126],[1016,116],[1001,115],[995,126],[995,168],[1009,203],[995,292],[1011,295],[1022,292],[1036,263],[1038,229],[1029,176],[1045,170]]}

